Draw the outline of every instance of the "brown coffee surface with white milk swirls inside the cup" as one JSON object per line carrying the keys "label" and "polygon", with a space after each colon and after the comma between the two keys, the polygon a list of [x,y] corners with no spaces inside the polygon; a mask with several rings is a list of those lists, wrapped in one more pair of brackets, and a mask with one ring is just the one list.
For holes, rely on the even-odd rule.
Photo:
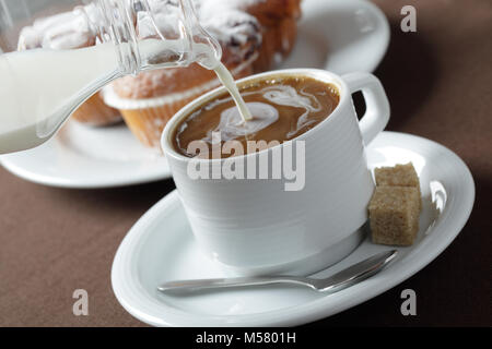
{"label": "brown coffee surface with white milk swirls inside the cup", "polygon": [[[210,158],[211,145],[235,141],[242,144],[244,154],[256,152],[257,147],[249,151],[248,142],[279,144],[293,140],[325,120],[340,99],[335,85],[311,77],[279,76],[242,86],[241,95],[251,113],[249,121],[242,119],[234,101],[223,94],[178,124],[173,136],[175,149],[185,156]],[[197,154],[197,141],[208,145],[209,154]]]}

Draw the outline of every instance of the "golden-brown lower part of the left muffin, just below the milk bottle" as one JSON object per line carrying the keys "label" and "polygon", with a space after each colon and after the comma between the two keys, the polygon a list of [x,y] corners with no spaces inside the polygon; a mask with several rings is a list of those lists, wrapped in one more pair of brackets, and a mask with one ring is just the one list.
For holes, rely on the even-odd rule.
{"label": "golden-brown lower part of the left muffin, just below the milk bottle", "polygon": [[99,93],[85,100],[72,115],[81,123],[104,127],[121,121],[119,111],[107,106]]}

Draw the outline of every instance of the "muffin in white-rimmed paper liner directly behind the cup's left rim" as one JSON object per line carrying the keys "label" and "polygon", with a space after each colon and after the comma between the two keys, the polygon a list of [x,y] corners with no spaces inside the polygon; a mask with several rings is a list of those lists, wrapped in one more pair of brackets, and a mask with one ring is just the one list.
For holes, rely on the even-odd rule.
{"label": "muffin in white-rimmed paper liner directly behind the cup's left rim", "polygon": [[[226,67],[235,79],[253,73],[250,61],[234,68]],[[163,81],[173,83],[162,84]],[[138,77],[122,77],[104,89],[104,99],[119,109],[126,124],[142,144],[159,148],[161,133],[176,111],[219,85],[213,71],[206,71],[194,63],[186,69],[166,69],[144,72]]]}

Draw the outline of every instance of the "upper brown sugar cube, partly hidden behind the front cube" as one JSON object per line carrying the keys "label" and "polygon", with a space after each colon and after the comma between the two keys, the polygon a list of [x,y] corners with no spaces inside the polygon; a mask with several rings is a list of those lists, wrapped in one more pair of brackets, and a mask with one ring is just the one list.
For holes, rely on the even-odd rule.
{"label": "upper brown sugar cube, partly hidden behind the front cube", "polygon": [[414,186],[419,192],[419,210],[422,208],[420,182],[412,163],[394,167],[374,169],[376,185],[378,186]]}

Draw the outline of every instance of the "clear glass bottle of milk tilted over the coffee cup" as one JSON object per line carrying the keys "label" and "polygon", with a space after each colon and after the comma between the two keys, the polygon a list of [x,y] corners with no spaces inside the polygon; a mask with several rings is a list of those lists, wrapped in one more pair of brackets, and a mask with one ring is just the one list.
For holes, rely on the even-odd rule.
{"label": "clear glass bottle of milk tilted over the coffee cup", "polygon": [[0,0],[0,154],[44,143],[115,79],[221,55],[190,0]]}

